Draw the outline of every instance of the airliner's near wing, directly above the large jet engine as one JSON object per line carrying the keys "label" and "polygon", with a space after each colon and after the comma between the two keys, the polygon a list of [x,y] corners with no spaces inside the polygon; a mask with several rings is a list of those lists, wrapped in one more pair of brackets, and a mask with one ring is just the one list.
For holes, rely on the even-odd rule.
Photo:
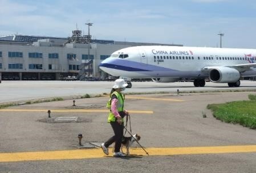
{"label": "airliner's near wing, directly above the large jet engine", "polygon": [[251,68],[256,68],[256,63],[250,63],[250,64],[237,64],[237,65],[220,65],[220,66],[209,66],[209,67],[204,67],[201,68],[202,72],[209,72],[211,69],[216,68],[216,67],[229,67],[229,68],[234,68],[238,72],[245,72],[245,71],[250,71],[252,70]]}

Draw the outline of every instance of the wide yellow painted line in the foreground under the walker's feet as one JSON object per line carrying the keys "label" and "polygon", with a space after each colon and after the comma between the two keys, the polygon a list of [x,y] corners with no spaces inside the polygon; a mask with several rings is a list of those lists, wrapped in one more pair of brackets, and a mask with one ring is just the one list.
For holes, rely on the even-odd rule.
{"label": "wide yellow painted line in the foreground under the walker's feet", "polygon": [[[111,151],[112,149],[109,149]],[[125,150],[125,149],[124,149]],[[225,154],[225,153],[255,153],[256,145],[245,146],[210,146],[210,147],[176,147],[176,148],[147,148],[151,155],[182,155],[182,154]],[[140,149],[131,149],[131,155],[147,155]],[[110,153],[109,156],[112,154]],[[63,160],[105,158],[101,149],[38,151],[23,153],[0,153],[0,162],[19,162],[31,160]]]}

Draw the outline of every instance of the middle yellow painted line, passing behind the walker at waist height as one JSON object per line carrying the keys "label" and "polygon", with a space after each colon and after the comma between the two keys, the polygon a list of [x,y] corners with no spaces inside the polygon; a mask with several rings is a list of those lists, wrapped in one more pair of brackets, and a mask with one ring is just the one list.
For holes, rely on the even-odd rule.
{"label": "middle yellow painted line, passing behind the walker at waist height", "polygon": [[[0,112],[48,112],[48,109],[0,109]],[[51,113],[64,113],[64,112],[109,112],[108,109],[51,109]],[[129,110],[129,113],[145,113],[153,114],[152,110]]]}

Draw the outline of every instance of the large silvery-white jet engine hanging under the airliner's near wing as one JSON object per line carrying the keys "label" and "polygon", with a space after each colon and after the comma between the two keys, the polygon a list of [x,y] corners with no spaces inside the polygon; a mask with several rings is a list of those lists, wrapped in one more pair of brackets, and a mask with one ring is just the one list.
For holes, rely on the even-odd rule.
{"label": "large silvery-white jet engine hanging under the airliner's near wing", "polygon": [[209,79],[213,83],[235,83],[240,78],[240,73],[230,67],[216,67],[210,70]]}

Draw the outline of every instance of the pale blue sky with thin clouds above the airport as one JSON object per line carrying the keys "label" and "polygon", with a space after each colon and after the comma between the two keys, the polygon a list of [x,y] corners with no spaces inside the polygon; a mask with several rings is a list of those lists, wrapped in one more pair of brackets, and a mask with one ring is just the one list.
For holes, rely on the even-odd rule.
{"label": "pale blue sky with thin clouds above the airport", "polygon": [[255,0],[0,0],[0,35],[256,48]]}

